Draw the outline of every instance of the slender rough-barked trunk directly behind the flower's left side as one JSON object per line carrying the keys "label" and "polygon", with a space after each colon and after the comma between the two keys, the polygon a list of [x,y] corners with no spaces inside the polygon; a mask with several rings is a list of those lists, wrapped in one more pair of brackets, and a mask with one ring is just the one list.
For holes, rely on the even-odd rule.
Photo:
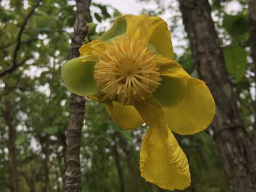
{"label": "slender rough-barked trunk directly behind the flower's left side", "polygon": [[[87,25],[87,18],[89,18],[90,4],[91,0],[76,0],[74,36],[68,59],[79,57],[78,49],[86,35],[84,28]],[[85,113],[85,98],[72,93],[70,95],[70,108],[70,123],[66,133],[65,192],[80,192],[82,186],[79,153]]]}

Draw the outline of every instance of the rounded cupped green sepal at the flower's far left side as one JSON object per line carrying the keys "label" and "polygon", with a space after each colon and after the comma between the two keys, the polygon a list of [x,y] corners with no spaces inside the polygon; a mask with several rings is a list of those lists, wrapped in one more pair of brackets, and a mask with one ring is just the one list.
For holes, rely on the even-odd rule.
{"label": "rounded cupped green sepal at the flower's far left side", "polygon": [[61,69],[67,89],[78,95],[94,95],[99,91],[94,79],[94,64],[88,57],[71,59]]}

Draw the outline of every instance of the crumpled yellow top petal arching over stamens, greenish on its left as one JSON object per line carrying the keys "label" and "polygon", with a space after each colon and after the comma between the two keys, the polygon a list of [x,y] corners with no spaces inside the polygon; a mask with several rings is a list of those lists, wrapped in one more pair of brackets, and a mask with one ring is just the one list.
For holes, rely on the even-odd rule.
{"label": "crumpled yellow top petal arching over stamens, greenish on its left", "polygon": [[122,15],[115,20],[113,27],[98,40],[109,42],[125,34],[129,38],[142,40],[149,44],[149,49],[153,49],[156,53],[169,59],[173,58],[171,34],[167,23],[162,18],[150,17],[146,14]]}

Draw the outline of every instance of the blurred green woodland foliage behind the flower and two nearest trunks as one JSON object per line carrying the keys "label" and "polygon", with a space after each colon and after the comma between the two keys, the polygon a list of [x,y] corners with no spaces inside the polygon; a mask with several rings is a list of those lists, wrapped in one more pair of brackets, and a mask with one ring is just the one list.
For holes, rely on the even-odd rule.
{"label": "blurred green woodland foliage behind the flower and two nearest trunks", "polygon": [[[0,3],[0,191],[63,191],[70,93],[63,87],[60,69],[70,49],[75,2]],[[141,11],[166,18],[174,40],[183,42],[174,47],[175,59],[199,78],[178,1],[146,3],[156,6],[151,10],[141,7]],[[239,114],[246,131],[253,135],[256,84],[255,67],[249,56],[248,2],[210,3],[219,36],[216,41],[220,41],[223,50]],[[230,3],[238,5],[238,9],[228,11]],[[85,42],[101,35],[121,14],[114,7],[92,1],[90,22],[99,26]],[[146,129],[142,126],[123,131],[108,118],[100,103],[86,99],[82,191],[165,191],[140,177],[139,149]],[[195,135],[175,136],[187,154],[191,170],[191,187],[184,191],[229,191],[212,127]]]}

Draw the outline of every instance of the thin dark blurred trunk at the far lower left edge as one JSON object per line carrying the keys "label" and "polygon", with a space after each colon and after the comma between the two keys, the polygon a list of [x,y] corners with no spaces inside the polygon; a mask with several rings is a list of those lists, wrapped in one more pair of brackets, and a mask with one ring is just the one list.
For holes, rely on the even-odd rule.
{"label": "thin dark blurred trunk at the far lower left edge", "polygon": [[12,171],[12,189],[13,192],[19,192],[19,174],[18,174],[18,163],[16,156],[16,130],[13,126],[13,118],[11,114],[11,104],[9,101],[5,102],[5,110],[3,111],[6,125],[8,126],[9,133],[9,152],[11,156],[11,171]]}

